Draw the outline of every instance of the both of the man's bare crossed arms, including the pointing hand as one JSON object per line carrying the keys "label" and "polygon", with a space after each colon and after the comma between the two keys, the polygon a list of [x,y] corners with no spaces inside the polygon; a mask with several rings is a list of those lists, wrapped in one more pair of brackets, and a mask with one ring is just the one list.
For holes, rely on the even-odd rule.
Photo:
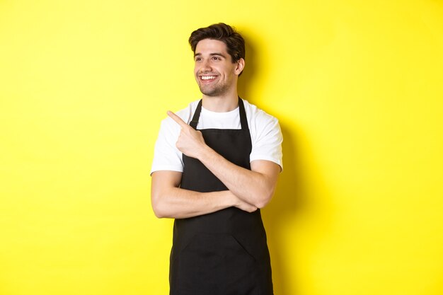
{"label": "both of the man's bare crossed arms, including the pointing hand", "polygon": [[181,127],[177,148],[186,156],[197,158],[228,190],[195,192],[179,187],[182,173],[161,170],[152,173],[151,202],[157,217],[187,218],[228,207],[254,212],[265,207],[274,194],[280,166],[271,161],[255,160],[251,170],[236,166],[211,149],[202,133],[190,127],[173,112],[168,115]]}

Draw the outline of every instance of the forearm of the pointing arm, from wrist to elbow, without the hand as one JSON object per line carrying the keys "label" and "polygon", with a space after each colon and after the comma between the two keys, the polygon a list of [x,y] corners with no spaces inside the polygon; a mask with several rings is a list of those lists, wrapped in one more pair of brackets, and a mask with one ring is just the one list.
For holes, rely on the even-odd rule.
{"label": "forearm of the pointing arm, from wrist to elbow, without the hand", "polygon": [[209,146],[206,146],[206,148],[202,150],[199,160],[214,173],[236,197],[242,199],[244,202],[253,204],[255,207],[264,207],[274,194],[277,177],[236,166],[223,156],[217,154],[217,152]]}

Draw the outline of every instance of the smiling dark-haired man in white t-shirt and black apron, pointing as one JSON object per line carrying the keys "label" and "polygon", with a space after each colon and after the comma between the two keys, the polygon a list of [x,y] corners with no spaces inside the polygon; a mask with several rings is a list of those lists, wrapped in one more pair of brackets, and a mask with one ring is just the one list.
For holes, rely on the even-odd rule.
{"label": "smiling dark-haired man in white t-shirt and black apron, pointing", "polygon": [[[260,216],[282,170],[277,119],[237,94],[243,37],[224,23],[192,32],[202,99],[161,123],[151,201],[174,218],[171,295],[271,295]],[[189,124],[189,125],[188,125]]]}

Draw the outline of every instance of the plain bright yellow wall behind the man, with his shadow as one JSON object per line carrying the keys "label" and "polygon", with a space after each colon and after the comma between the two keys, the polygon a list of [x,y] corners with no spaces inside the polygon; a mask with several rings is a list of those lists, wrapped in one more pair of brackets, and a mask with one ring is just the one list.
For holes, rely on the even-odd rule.
{"label": "plain bright yellow wall behind the man, with his shadow", "polygon": [[284,133],[275,294],[443,294],[440,0],[0,1],[0,294],[167,294],[154,140],[219,21]]}

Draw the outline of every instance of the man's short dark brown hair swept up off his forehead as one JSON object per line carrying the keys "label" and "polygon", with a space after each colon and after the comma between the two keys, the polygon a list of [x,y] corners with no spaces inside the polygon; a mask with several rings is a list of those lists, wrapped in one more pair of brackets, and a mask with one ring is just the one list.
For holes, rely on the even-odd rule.
{"label": "man's short dark brown hair swept up off his forehead", "polygon": [[214,25],[209,25],[207,28],[200,28],[192,32],[189,37],[189,44],[194,54],[197,43],[204,39],[224,42],[233,63],[237,62],[238,59],[245,59],[245,40],[231,25],[214,23]]}

